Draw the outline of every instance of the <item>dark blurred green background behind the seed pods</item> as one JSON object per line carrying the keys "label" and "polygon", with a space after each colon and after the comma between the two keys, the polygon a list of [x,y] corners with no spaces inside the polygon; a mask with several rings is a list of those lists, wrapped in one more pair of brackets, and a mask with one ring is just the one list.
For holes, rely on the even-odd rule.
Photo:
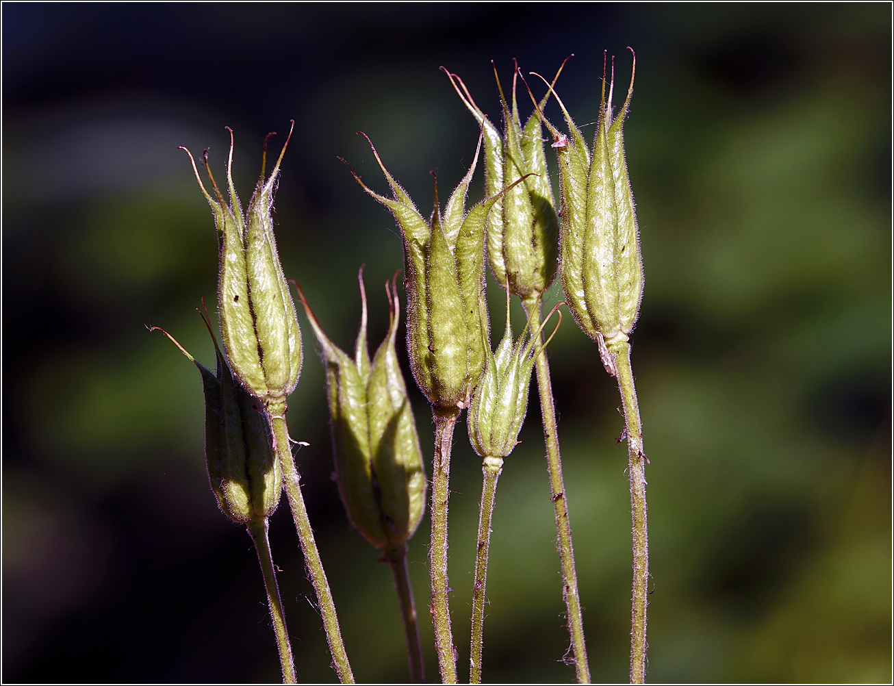
{"label": "dark blurred green background behind the seed pods", "polygon": [[[249,537],[202,458],[195,308],[215,299],[211,213],[177,150],[236,134],[247,198],[267,131],[296,133],[277,238],[349,346],[366,263],[370,336],[401,267],[366,131],[427,212],[477,126],[490,60],[552,74],[595,120],[603,49],[621,83],[645,260],[634,368],[651,459],[652,682],[890,682],[889,4],[4,4],[3,679],[277,681]],[[532,84],[537,93],[542,85]],[[527,101],[521,98],[527,113]],[[547,114],[560,114],[551,102]],[[593,127],[585,129],[592,134]],[[283,137],[274,139],[274,149]],[[551,158],[553,165],[553,159]],[[473,183],[481,195],[480,172]],[[493,329],[501,294],[489,277]],[[403,294],[401,292],[401,301]],[[549,304],[561,300],[553,288]],[[517,322],[520,318],[516,319]],[[358,680],[406,679],[388,566],[350,528],[306,320],[291,433]],[[629,500],[620,405],[595,344],[551,345],[595,681],[628,669]],[[409,377],[408,377],[409,380]],[[431,420],[409,381],[427,459]],[[536,394],[532,394],[532,399]],[[571,682],[536,400],[494,515],[487,682]],[[451,585],[460,673],[480,462],[455,438]],[[299,678],[334,682],[283,504],[274,558]],[[427,519],[410,556],[426,613]]]}

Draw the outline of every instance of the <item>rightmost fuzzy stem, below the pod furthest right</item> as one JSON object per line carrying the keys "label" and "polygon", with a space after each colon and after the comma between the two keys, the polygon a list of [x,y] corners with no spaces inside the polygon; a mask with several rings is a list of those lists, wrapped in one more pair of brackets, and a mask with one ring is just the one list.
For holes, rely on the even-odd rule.
{"label": "rightmost fuzzy stem, below the pod furthest right", "polygon": [[645,683],[645,607],[648,605],[649,538],[645,521],[645,462],[643,429],[639,421],[637,389],[630,367],[630,344],[608,343],[618,370],[618,388],[627,422],[630,470],[630,507],[633,520],[633,607],[630,614],[630,683]]}

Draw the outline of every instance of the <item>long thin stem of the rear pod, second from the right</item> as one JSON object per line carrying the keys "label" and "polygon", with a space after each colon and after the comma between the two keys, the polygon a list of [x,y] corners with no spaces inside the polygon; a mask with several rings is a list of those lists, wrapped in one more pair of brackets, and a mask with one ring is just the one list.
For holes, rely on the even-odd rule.
{"label": "long thin stem of the rear pod, second from the right", "polygon": [[[528,318],[536,317],[540,323],[540,296],[529,301],[522,301]],[[543,341],[543,334],[540,336]],[[550,472],[552,487],[552,507],[555,510],[556,533],[559,537],[559,561],[562,575],[562,597],[565,599],[568,614],[568,631],[571,636],[571,647],[574,649],[574,665],[578,673],[578,683],[590,682],[590,665],[586,658],[586,639],[584,638],[584,617],[580,608],[578,591],[578,572],[574,564],[574,546],[571,542],[571,522],[568,515],[568,499],[565,496],[565,481],[561,474],[561,453],[559,452],[559,429],[556,426],[555,402],[552,400],[552,380],[550,379],[550,363],[546,359],[546,351],[541,351],[536,360],[537,388],[540,391],[540,414],[544,420],[544,439],[546,442],[546,462]]]}

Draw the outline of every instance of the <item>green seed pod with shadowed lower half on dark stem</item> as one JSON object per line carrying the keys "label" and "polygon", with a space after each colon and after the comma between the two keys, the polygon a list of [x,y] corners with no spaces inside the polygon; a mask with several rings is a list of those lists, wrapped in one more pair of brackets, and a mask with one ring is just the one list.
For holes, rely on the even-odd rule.
{"label": "green seed pod with shadowed lower half on dark stem", "polygon": [[367,293],[358,274],[362,314],[354,358],[325,335],[304,294],[326,366],[335,477],[351,523],[374,546],[393,549],[416,531],[426,504],[426,473],[397,353],[397,285],[385,284],[391,322],[370,363]]}

